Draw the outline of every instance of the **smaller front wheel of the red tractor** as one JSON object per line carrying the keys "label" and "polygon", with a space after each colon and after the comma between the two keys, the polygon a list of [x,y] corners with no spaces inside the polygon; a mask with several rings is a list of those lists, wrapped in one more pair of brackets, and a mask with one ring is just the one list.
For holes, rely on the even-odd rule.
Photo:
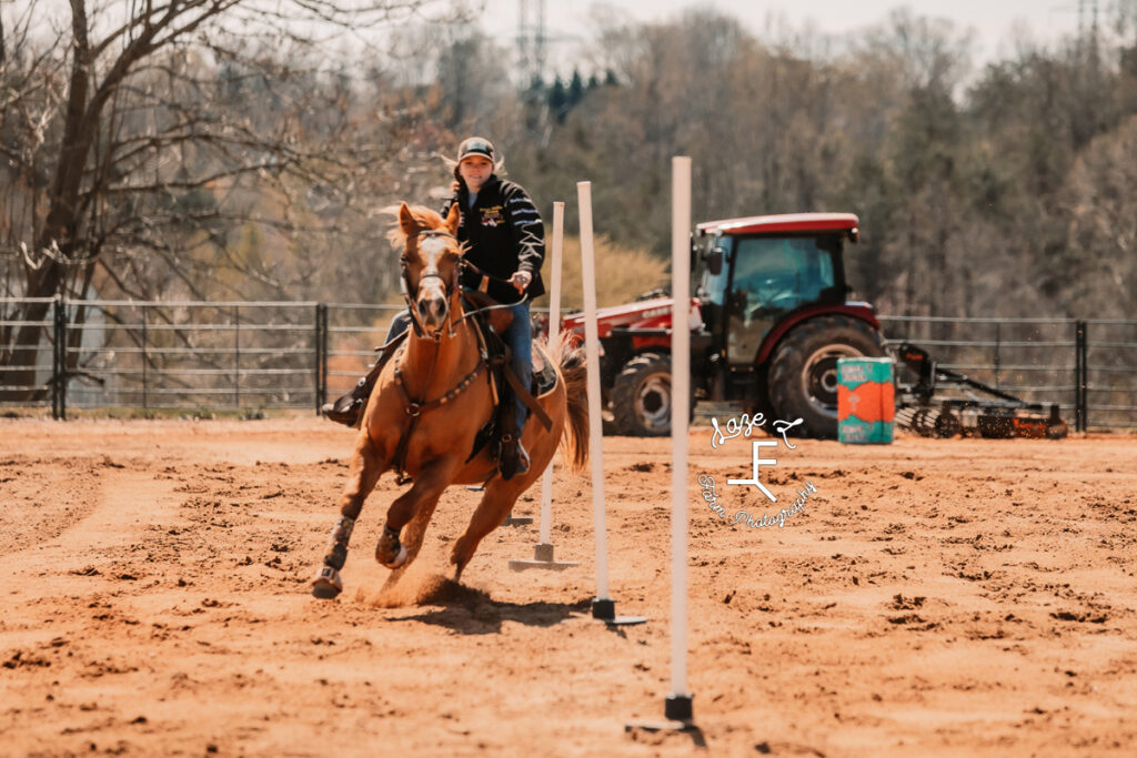
{"label": "smaller front wheel of the red tractor", "polygon": [[636,356],[612,385],[612,415],[616,434],[671,434],[671,360],[656,352]]}

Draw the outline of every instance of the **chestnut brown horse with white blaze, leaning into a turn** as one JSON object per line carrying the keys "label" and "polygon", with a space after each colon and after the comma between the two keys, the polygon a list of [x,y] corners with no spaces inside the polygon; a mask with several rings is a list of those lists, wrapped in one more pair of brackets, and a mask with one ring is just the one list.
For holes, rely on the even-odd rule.
{"label": "chestnut brown horse with white blaze, leaning into a turn", "polygon": [[[387,364],[372,390],[351,458],[351,478],[340,498],[340,519],[313,582],[317,598],[334,598],[343,589],[339,570],[347,559],[351,528],[383,472],[395,468],[414,480],[388,508],[375,548],[375,560],[400,569],[389,583],[418,553],[442,491],[451,484],[485,483],[465,534],[450,552],[457,581],[482,539],[541,476],[558,444],[572,468],[579,470],[588,460],[584,360],[566,340],[550,348],[557,382],[537,399],[551,428],[533,418],[522,435],[530,453],[529,472],[504,480],[489,448],[467,460],[478,432],[495,411],[495,392],[476,326],[464,317],[458,288],[463,251],[455,236],[458,220],[457,206],[446,219],[426,208],[399,207],[391,240],[402,247],[414,328],[408,330],[401,355]],[[539,345],[534,348],[536,363],[542,352]]]}

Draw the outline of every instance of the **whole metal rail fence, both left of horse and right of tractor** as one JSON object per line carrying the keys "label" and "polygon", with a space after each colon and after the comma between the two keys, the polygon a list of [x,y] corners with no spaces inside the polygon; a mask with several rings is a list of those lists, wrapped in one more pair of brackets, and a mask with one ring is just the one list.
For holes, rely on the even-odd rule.
{"label": "whole metal rail fence, both left of horse and right of tractor", "polygon": [[[0,348],[40,332],[38,359],[0,366],[0,407],[194,411],[310,408],[346,392],[402,306],[57,298],[40,322],[0,299]],[[539,310],[539,309],[534,309]],[[1137,320],[885,316],[945,368],[1038,402],[1080,430],[1137,428]]]}

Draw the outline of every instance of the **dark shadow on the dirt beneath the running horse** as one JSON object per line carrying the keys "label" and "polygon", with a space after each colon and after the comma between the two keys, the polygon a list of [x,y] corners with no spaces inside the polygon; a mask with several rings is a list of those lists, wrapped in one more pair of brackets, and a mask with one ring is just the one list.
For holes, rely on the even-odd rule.
{"label": "dark shadow on the dirt beneath the running horse", "polygon": [[590,599],[575,602],[509,602],[495,600],[489,592],[445,578],[415,599],[418,606],[435,606],[412,616],[392,618],[446,627],[457,634],[497,634],[504,622],[526,626],[555,626],[588,614]]}

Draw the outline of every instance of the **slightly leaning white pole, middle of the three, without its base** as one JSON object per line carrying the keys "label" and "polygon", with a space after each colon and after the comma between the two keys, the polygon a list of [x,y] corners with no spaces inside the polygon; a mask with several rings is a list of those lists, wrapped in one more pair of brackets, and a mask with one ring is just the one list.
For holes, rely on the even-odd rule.
{"label": "slightly leaning white pole, middle of the three, without its base", "polygon": [[580,203],[580,269],[584,284],[584,357],[588,361],[588,435],[592,463],[592,525],[596,530],[596,599],[608,598],[608,530],[604,517],[604,425],[600,419],[600,338],[596,325],[592,251],[592,183],[576,183]]}

